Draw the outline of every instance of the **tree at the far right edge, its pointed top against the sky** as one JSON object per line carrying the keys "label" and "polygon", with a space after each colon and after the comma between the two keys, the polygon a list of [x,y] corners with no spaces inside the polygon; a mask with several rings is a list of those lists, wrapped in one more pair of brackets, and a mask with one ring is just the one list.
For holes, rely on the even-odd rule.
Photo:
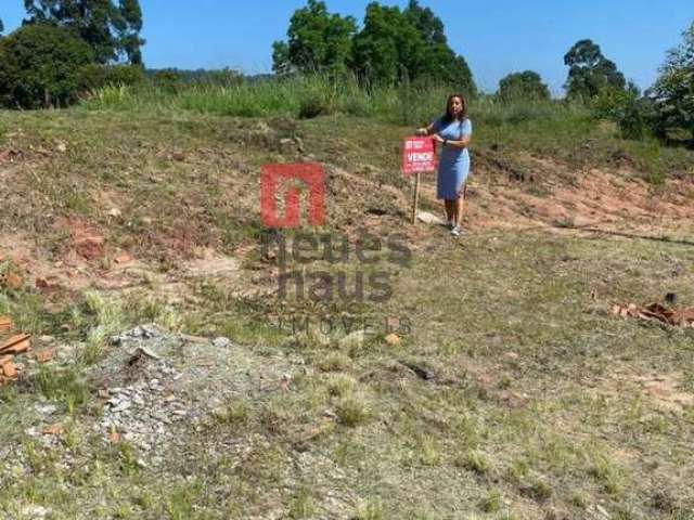
{"label": "tree at the far right edge, its pointed top against the sky", "polygon": [[657,133],[681,129],[694,139],[694,23],[682,32],[682,43],[668,52],[648,95],[656,105]]}

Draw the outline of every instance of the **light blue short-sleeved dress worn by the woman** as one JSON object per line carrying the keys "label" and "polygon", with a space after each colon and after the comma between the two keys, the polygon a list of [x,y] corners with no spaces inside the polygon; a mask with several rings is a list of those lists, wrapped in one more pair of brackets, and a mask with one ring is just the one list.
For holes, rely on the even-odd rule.
{"label": "light blue short-sleeved dress worn by the woman", "polygon": [[[440,118],[434,123],[434,132],[449,141],[460,141],[463,135],[472,135],[473,123],[470,119],[464,119],[463,121],[455,119],[447,123],[444,118]],[[463,184],[467,180],[468,173],[470,154],[467,153],[467,148],[444,145],[438,165],[436,196],[439,199],[457,199]]]}

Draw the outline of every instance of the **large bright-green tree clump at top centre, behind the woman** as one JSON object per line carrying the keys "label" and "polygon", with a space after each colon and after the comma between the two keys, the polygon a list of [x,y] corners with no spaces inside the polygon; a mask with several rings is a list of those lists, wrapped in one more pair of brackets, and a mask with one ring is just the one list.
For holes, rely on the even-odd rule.
{"label": "large bright-green tree clump at top centre, behind the woman", "polygon": [[370,3],[358,34],[352,17],[330,14],[323,2],[309,0],[292,16],[287,36],[287,42],[272,46],[278,75],[327,73],[344,78],[351,72],[372,87],[435,80],[476,92],[467,63],[447,43],[442,22],[416,0],[404,11]]}

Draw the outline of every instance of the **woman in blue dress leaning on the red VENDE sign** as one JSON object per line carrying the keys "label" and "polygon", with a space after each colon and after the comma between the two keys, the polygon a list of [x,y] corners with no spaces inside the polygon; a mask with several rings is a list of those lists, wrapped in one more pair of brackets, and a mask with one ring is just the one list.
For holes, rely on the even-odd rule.
{"label": "woman in blue dress leaning on the red VENDE sign", "polygon": [[417,135],[433,135],[441,144],[441,159],[438,167],[437,197],[446,203],[446,217],[451,235],[460,236],[465,204],[465,181],[470,173],[467,145],[473,133],[473,125],[467,119],[467,103],[461,94],[453,94],[446,103],[446,114],[426,128],[420,128]]}

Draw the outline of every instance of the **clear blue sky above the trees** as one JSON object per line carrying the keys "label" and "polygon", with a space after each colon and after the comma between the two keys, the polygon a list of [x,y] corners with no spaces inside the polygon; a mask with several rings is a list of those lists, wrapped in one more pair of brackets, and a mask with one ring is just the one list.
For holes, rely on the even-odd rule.
{"label": "clear blue sky above the trees", "polygon": [[[149,67],[223,67],[269,72],[271,44],[283,39],[304,0],[140,0]],[[330,11],[361,22],[368,0],[326,0]],[[381,3],[404,6],[407,0]],[[566,78],[564,53],[591,38],[628,79],[653,83],[668,49],[694,21],[692,0],[421,0],[444,21],[451,47],[477,84],[493,91],[511,72],[532,69],[555,94]],[[23,0],[2,0],[5,32],[20,25]]]}

